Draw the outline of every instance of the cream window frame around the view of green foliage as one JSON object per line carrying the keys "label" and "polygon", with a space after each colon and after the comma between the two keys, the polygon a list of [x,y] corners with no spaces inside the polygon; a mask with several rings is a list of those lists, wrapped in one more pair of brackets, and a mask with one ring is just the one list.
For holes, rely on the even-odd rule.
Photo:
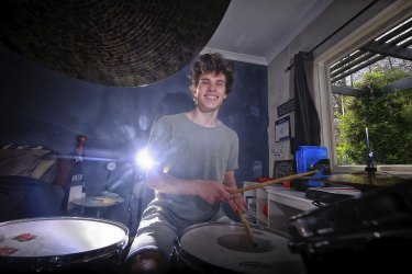
{"label": "cream window frame around the view of green foliage", "polygon": [[[327,150],[333,173],[353,173],[364,171],[364,165],[338,165],[334,134],[334,115],[332,101],[332,83],[329,67],[336,60],[353,53],[361,45],[377,36],[377,33],[389,31],[398,23],[410,18],[411,7],[408,1],[399,1],[370,19],[355,32],[319,55],[313,61],[314,103],[321,121],[322,145]],[[379,164],[378,171],[402,174],[411,173],[411,164]]]}

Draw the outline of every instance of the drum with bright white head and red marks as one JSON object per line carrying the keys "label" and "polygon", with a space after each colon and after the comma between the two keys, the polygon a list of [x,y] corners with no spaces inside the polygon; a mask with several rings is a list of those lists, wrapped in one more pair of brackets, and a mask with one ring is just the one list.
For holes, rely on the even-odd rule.
{"label": "drum with bright white head and red marks", "polygon": [[0,272],[112,273],[127,244],[122,224],[93,218],[30,218],[0,224]]}

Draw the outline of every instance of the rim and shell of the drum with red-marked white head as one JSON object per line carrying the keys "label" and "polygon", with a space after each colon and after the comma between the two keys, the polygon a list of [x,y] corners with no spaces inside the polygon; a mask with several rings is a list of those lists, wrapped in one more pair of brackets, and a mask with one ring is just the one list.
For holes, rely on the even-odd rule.
{"label": "rim and shell of the drum with red-marked white head", "polygon": [[102,256],[108,256],[118,253],[120,258],[123,249],[126,247],[129,242],[129,228],[118,221],[109,220],[109,219],[100,219],[100,218],[92,218],[92,217],[70,217],[70,216],[57,216],[57,217],[36,217],[36,218],[24,218],[24,219],[14,219],[0,222],[0,228],[5,227],[8,225],[15,225],[15,224],[23,224],[23,222],[31,222],[31,221],[44,221],[44,220],[86,220],[86,221],[98,221],[114,225],[124,231],[124,240],[118,241],[113,244],[109,244],[107,247],[76,252],[71,254],[65,255],[46,255],[46,256],[13,256],[13,255],[0,255],[0,264],[2,265],[2,270],[5,271],[20,271],[22,270],[21,264],[24,264],[29,269],[25,271],[51,271],[51,270],[58,270],[65,269],[74,264],[82,263],[90,260],[96,260]]}

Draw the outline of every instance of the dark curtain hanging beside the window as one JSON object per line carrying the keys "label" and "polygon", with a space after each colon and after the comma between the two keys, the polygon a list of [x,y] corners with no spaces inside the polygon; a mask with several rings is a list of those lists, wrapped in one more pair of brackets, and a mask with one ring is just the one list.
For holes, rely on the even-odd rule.
{"label": "dark curtain hanging beside the window", "polygon": [[[310,89],[312,56],[300,52],[293,58],[293,91],[294,91],[294,149],[299,146],[321,145],[321,123],[314,106]],[[309,82],[310,81],[310,82]]]}

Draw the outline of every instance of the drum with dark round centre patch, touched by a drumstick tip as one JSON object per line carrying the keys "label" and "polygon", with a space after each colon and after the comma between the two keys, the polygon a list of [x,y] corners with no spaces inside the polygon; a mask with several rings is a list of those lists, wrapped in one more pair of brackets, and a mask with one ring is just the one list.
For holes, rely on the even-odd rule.
{"label": "drum with dark round centre patch, touched by a drumstick tip", "polygon": [[250,225],[254,246],[245,227],[237,222],[208,222],[191,226],[175,240],[175,269],[199,273],[304,273],[299,255],[288,249],[288,238]]}

